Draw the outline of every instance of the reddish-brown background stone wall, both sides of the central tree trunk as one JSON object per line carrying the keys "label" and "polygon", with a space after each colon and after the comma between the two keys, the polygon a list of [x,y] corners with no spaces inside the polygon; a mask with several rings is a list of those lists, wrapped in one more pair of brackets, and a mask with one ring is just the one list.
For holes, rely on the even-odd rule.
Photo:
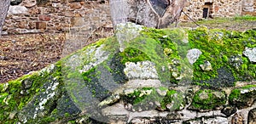
{"label": "reddish-brown background stone wall, both sides of the central tree trunk", "polygon": [[[231,17],[243,14],[256,15],[253,0],[188,0],[183,8],[194,20],[207,17]],[[4,34],[57,33],[83,28],[88,34],[100,27],[112,28],[108,0],[15,0],[3,25]],[[189,18],[182,14],[181,21]]]}

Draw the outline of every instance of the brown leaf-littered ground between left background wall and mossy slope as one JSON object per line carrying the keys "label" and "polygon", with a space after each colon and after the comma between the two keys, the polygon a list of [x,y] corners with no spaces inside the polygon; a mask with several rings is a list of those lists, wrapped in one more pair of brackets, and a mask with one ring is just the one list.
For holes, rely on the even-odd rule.
{"label": "brown leaf-littered ground between left background wall and mossy slope", "polygon": [[0,83],[14,80],[31,71],[41,70],[67,54],[112,34],[112,29],[99,28],[89,37],[70,33],[2,36],[0,37]]}

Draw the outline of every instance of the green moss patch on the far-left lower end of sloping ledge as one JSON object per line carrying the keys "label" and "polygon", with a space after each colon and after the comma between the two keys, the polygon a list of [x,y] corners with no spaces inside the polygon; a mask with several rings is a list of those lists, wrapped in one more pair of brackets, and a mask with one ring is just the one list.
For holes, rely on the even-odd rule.
{"label": "green moss patch on the far-left lower end of sloping ledge", "polygon": [[[23,107],[42,90],[44,82],[48,82],[49,78],[51,79],[53,76],[61,75],[60,72],[57,72],[61,70],[60,68],[61,66],[56,66],[51,74],[47,71],[44,71],[44,74],[35,72],[32,73],[32,75],[22,76],[19,79],[10,81],[6,84],[0,84],[2,87],[0,99],[5,99],[3,100],[4,102],[1,102],[0,104],[1,108],[3,108],[0,110],[0,113],[6,113],[3,115],[1,114],[0,123],[15,122],[15,120],[17,120],[17,115],[15,115],[14,119],[9,120],[9,112],[22,110]],[[31,86],[25,87],[28,84],[24,83],[31,83]]]}

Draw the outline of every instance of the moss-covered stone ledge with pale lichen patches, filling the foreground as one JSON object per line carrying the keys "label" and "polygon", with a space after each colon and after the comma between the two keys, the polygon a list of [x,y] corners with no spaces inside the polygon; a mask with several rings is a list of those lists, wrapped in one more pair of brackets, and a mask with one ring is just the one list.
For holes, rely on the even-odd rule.
{"label": "moss-covered stone ledge with pale lichen patches, filling the foreground", "polygon": [[[244,54],[246,48],[256,48],[255,30],[143,27],[128,39],[122,42],[123,52],[118,38],[109,37],[44,70],[0,84],[0,123],[204,120],[200,114],[186,115],[186,110],[215,111],[218,119],[229,121],[236,108],[255,108],[256,64]],[[189,60],[193,48],[201,52]],[[236,82],[245,83],[239,87]],[[123,113],[114,113],[119,104]],[[223,112],[227,106],[233,108],[231,114]],[[132,115],[143,111],[158,116]]]}

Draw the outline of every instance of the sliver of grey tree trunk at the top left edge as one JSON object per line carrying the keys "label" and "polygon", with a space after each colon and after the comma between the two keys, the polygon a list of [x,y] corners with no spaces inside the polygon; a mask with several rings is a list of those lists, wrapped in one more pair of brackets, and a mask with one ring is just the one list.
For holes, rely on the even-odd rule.
{"label": "sliver of grey tree trunk at the top left edge", "polygon": [[0,0],[0,37],[2,35],[3,24],[9,10],[10,0]]}

